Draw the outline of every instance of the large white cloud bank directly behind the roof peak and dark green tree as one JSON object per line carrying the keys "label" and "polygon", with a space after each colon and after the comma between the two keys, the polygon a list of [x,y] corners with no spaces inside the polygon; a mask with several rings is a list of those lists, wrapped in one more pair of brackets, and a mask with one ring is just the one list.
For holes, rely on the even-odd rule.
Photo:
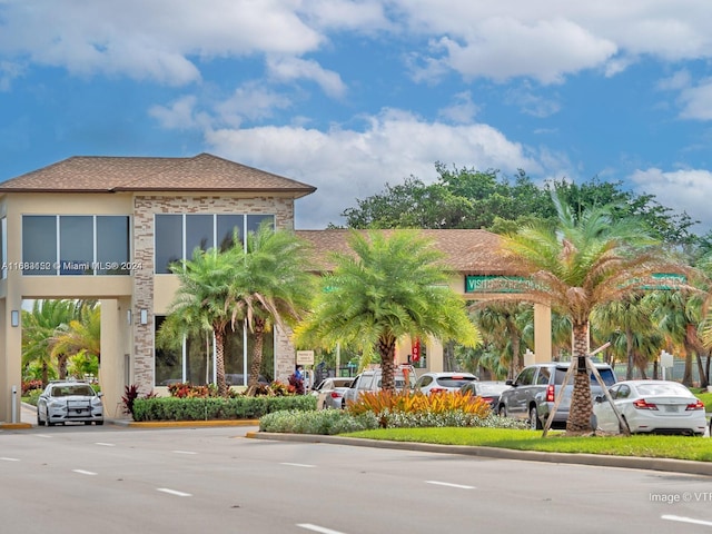
{"label": "large white cloud bank directly behind the roof peak and dark green tree", "polygon": [[207,132],[210,150],[317,187],[297,201],[298,228],[343,224],[340,212],[415,175],[436,178],[435,161],[477,169],[541,171],[525,147],[486,125],[425,122],[399,110],[366,118],[363,131],[334,128],[323,132],[297,127],[221,129]]}

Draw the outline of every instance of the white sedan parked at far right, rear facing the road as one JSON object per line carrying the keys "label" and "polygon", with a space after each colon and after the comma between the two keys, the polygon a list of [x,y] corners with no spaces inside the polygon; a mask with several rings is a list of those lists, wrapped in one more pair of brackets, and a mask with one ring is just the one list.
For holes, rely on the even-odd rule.
{"label": "white sedan parked at far right, rear facing the road", "polygon": [[[613,403],[632,433],[704,435],[704,404],[682,384],[670,380],[624,380],[609,388]],[[599,429],[620,433],[611,403],[595,398],[593,414]]]}

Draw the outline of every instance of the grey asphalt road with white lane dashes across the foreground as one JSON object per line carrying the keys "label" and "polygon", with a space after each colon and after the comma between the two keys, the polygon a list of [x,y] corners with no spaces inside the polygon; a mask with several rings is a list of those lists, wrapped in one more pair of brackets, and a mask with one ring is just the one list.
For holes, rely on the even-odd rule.
{"label": "grey asphalt road with white lane dashes across the foreground", "polygon": [[0,533],[712,532],[712,477],[324,443],[250,427],[0,432]]}

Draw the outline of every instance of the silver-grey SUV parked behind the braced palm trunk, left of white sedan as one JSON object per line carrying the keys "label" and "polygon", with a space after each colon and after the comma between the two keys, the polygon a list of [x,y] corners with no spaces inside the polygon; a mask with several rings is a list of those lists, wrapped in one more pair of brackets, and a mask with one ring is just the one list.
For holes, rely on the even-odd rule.
{"label": "silver-grey SUV parked behind the braced palm trunk, left of white sedan", "polygon": [[[525,367],[514,380],[507,380],[510,389],[502,392],[497,413],[502,416],[525,419],[533,429],[541,429],[554,407],[564,376],[568,372],[568,362],[540,363]],[[605,387],[616,383],[615,373],[609,364],[594,363]],[[603,393],[593,373],[591,377],[592,399]],[[568,419],[574,377],[571,376],[556,408],[552,425],[562,425]]]}

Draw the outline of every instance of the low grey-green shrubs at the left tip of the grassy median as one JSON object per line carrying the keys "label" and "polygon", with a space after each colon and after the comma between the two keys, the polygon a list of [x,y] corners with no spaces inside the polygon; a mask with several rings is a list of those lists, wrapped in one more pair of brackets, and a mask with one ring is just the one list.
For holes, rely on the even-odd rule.
{"label": "low grey-green shrubs at the left tip of the grassy median", "polygon": [[334,435],[378,428],[373,413],[352,415],[340,409],[318,412],[281,411],[259,419],[261,432]]}

